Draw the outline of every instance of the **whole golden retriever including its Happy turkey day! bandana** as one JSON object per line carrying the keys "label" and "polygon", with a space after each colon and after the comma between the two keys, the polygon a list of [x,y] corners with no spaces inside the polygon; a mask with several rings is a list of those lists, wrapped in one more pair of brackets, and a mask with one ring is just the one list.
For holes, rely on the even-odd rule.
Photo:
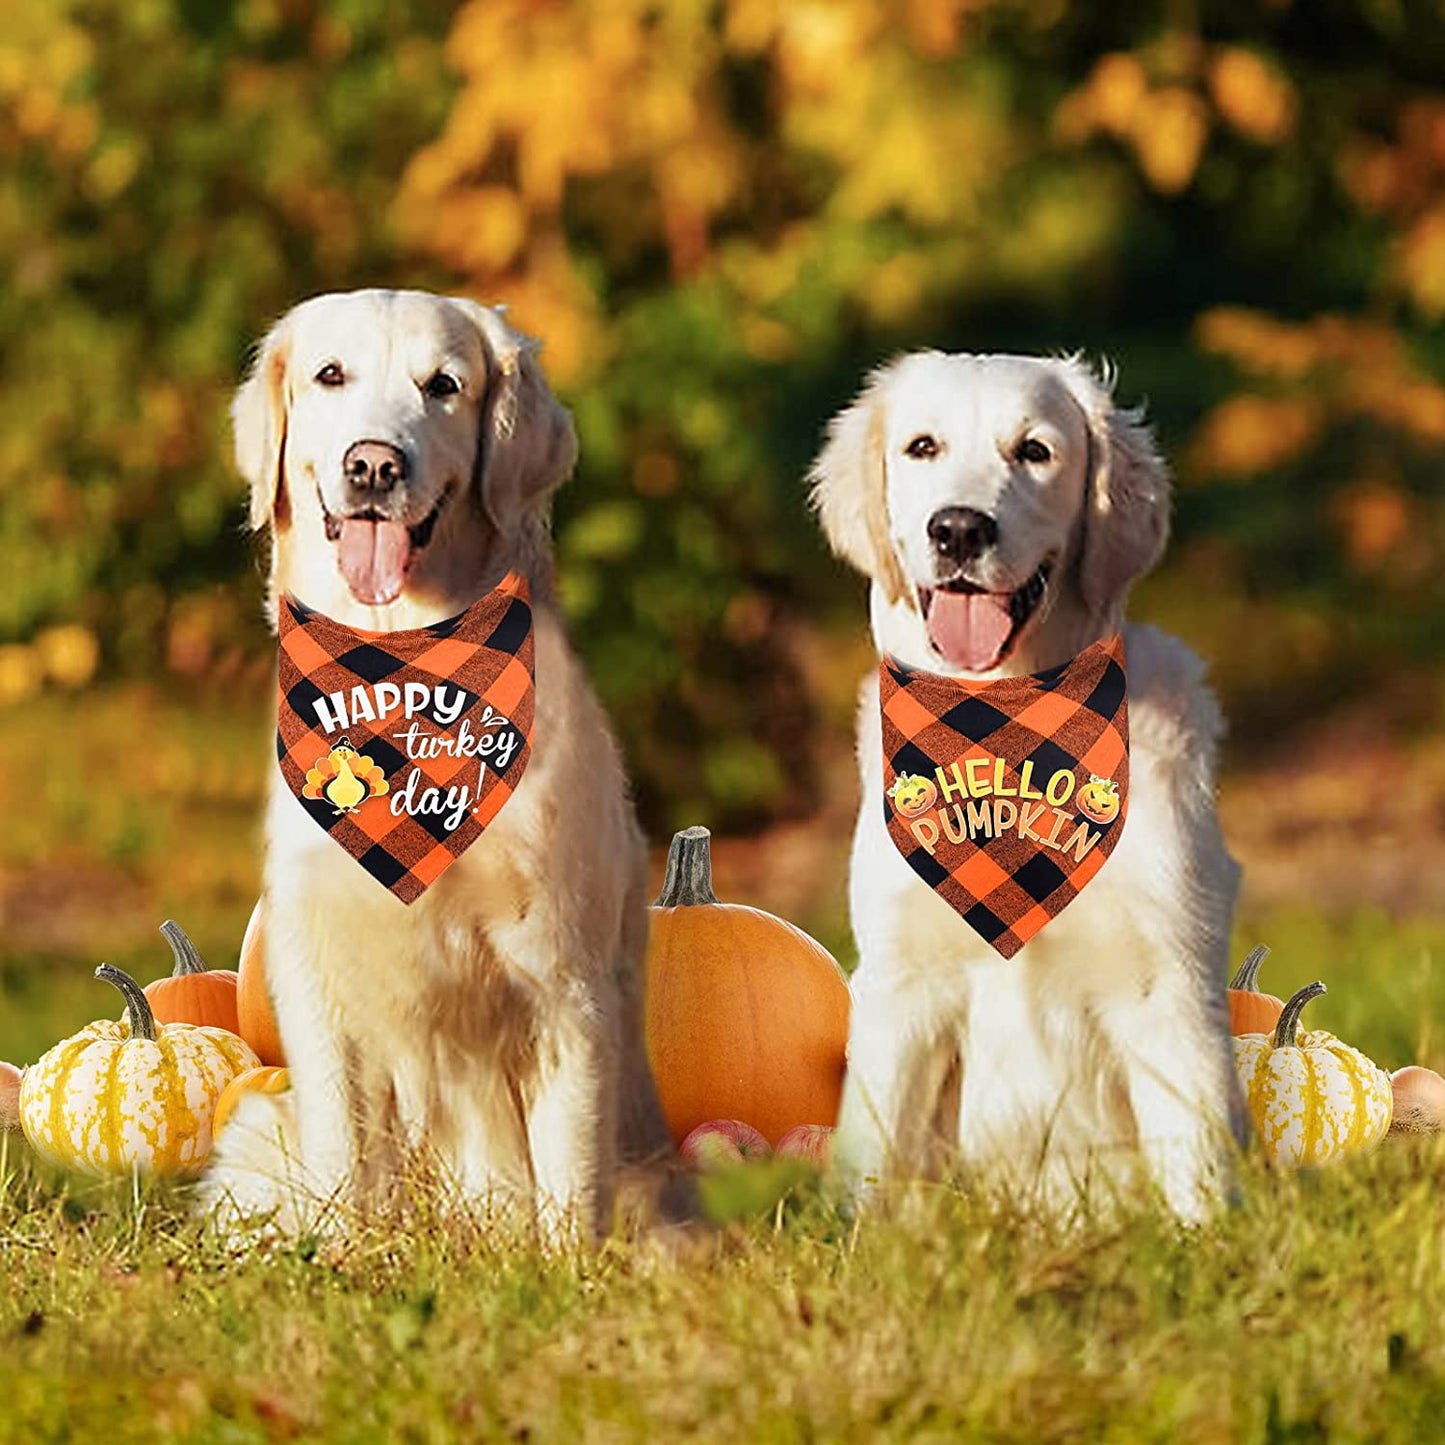
{"label": "whole golden retriever including its Happy turkey day! bandana", "polygon": [[552,587],[572,422],[536,342],[455,296],[316,296],[234,406],[277,633],[264,965],[293,1088],[247,1095],[211,1212],[345,1233],[444,1202],[605,1233],[665,1144],[646,854]]}

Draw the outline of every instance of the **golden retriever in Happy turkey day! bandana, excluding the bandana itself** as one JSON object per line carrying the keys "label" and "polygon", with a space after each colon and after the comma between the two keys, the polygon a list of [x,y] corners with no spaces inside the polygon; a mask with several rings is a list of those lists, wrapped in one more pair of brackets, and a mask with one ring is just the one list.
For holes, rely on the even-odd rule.
{"label": "golden retriever in Happy turkey day! bandana, excluding the bandana itself", "polygon": [[233,415],[272,532],[272,621],[288,592],[354,627],[423,627],[519,569],[538,724],[516,795],[410,906],[273,772],[266,968],[293,1092],[243,1101],[205,1199],[311,1228],[394,1202],[423,1157],[478,1212],[594,1237],[620,1131],[637,1150],[665,1136],[640,1029],[643,840],[552,598],[571,419],[497,311],[406,290],[296,306]]}

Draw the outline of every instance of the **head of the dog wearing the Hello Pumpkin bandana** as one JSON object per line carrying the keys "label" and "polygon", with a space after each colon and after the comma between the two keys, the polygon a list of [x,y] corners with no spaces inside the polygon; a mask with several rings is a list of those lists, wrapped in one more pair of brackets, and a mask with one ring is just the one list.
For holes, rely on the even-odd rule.
{"label": "head of the dog wearing the Hello Pumpkin bandana", "polygon": [[812,488],[880,643],[935,670],[1000,669],[1055,607],[1111,630],[1169,526],[1147,428],[1075,360],[902,357],[834,418]]}

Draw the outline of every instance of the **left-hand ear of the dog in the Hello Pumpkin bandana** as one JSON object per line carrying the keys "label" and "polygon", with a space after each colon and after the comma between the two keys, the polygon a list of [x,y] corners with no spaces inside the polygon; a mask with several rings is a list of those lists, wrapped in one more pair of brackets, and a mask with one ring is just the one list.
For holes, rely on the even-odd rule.
{"label": "left-hand ear of the dog in the Hello Pumpkin bandana", "polygon": [[883,392],[889,370],[873,371],[857,400],[828,423],[828,439],[809,468],[808,483],[828,545],[896,603],[907,594],[907,584],[890,539],[883,467]]}

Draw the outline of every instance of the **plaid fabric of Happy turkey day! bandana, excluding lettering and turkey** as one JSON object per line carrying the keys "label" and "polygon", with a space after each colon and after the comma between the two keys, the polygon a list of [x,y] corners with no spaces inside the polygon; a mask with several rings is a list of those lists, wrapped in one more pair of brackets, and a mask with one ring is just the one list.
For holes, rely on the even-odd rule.
{"label": "plaid fabric of Happy turkey day! bandana, excluding lettering and turkey", "polygon": [[[532,756],[536,694],[526,578],[512,572],[467,611],[409,631],[360,631],[293,597],[282,598],[279,624],[276,757],[282,776],[298,805],[371,877],[403,903],[413,903],[481,837],[516,790]],[[452,689],[464,691],[464,707],[447,725],[435,715],[435,692],[432,704],[413,714],[410,721],[420,722],[429,736],[457,737],[462,720],[470,718],[475,737],[490,705],[493,720],[501,714],[520,736],[504,772],[477,756],[407,759],[405,741],[394,736],[410,727],[400,709],[374,721],[348,715],[342,728],[324,731],[318,701],[331,707],[328,699],[340,692],[350,714],[353,689],[371,694],[380,682],[394,683],[403,695],[409,682],[432,689],[445,683],[448,704],[455,698]],[[480,727],[483,737],[488,731],[497,731],[494,721]],[[308,769],[329,754],[342,733],[390,785],[390,793],[367,798],[354,812],[338,812],[325,798],[302,796]],[[441,789],[442,798],[449,785],[471,788],[474,806],[455,828],[447,828],[445,814],[393,814],[392,799],[405,789],[412,770],[422,775],[415,785],[418,796],[426,788]]]}

